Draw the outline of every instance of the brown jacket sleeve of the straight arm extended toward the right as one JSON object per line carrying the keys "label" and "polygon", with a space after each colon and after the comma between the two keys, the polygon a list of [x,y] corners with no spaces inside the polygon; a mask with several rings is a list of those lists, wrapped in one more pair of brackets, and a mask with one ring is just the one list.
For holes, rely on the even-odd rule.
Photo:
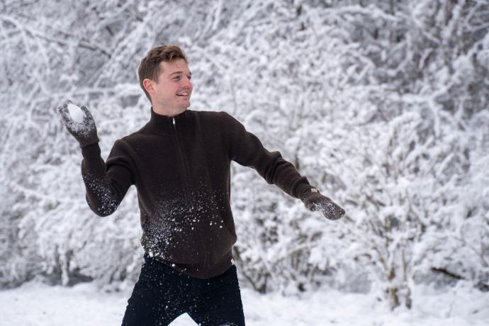
{"label": "brown jacket sleeve of the straight arm extended toward the right", "polygon": [[305,176],[301,176],[291,162],[283,159],[280,152],[269,152],[257,136],[249,133],[238,120],[223,112],[224,137],[230,159],[257,170],[267,183],[275,184],[289,196],[300,198],[313,188]]}

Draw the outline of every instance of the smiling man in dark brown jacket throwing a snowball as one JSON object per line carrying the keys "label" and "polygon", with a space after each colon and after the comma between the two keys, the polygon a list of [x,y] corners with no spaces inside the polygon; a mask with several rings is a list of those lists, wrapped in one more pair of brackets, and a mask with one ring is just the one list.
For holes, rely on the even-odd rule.
{"label": "smiling man in dark brown jacket throwing a snowball", "polygon": [[331,220],[344,210],[229,114],[188,110],[192,74],[179,47],[154,47],[138,72],[152,104],[150,121],[117,140],[106,162],[88,109],[81,107],[81,123],[69,116],[71,101],[58,109],[81,147],[91,210],[110,215],[128,188],[137,188],[145,263],[123,325],[168,325],[183,313],[199,325],[245,325],[231,252],[237,238],[231,161],[253,167],[269,184]]}

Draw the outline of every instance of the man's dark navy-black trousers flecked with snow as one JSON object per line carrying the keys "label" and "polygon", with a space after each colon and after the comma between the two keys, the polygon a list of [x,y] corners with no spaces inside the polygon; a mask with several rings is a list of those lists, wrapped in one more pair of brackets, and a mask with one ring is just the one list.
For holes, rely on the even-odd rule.
{"label": "man's dark navy-black trousers flecked with snow", "polygon": [[245,325],[236,266],[196,279],[145,255],[122,325],[169,325],[184,313],[198,325]]}

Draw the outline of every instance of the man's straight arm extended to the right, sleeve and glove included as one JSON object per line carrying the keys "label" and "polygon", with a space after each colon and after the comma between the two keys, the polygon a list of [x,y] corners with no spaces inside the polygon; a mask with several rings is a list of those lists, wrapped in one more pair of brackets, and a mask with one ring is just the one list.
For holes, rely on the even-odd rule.
{"label": "man's straight arm extended to the right, sleeve and glove included", "polygon": [[323,196],[301,176],[291,162],[283,159],[280,152],[269,152],[257,136],[245,130],[235,118],[223,113],[224,130],[230,158],[246,167],[252,167],[268,182],[295,198],[300,198],[309,210],[320,210],[326,218],[337,220],[344,210],[330,198]]}

